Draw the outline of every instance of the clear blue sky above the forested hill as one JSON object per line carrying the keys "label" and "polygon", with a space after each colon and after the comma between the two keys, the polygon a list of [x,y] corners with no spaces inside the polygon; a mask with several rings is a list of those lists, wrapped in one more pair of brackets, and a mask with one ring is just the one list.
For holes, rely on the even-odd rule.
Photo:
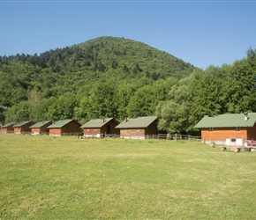
{"label": "clear blue sky above the forested hill", "polygon": [[256,48],[256,0],[0,0],[0,55],[40,55],[102,36],[137,40],[206,70]]}

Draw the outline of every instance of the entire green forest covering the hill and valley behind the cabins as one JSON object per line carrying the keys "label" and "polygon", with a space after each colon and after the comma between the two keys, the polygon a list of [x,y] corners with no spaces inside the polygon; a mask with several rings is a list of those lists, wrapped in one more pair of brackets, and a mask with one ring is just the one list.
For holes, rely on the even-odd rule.
{"label": "entire green forest covering the hill and valley behind the cabins", "polygon": [[256,49],[200,70],[124,38],[101,37],[41,55],[0,56],[0,122],[157,115],[169,133],[204,115],[256,112]]}

